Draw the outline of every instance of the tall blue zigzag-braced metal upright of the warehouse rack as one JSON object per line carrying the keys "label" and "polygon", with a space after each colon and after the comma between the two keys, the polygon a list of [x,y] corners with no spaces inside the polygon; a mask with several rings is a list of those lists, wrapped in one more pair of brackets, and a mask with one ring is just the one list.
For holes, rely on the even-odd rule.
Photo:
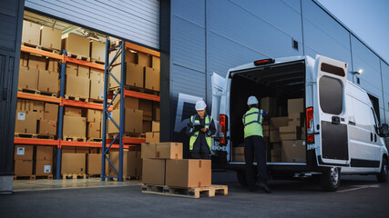
{"label": "tall blue zigzag-braced metal upright of the warehouse rack", "polygon": [[[110,41],[107,39],[106,41],[106,64],[104,69],[104,103],[103,103],[103,143],[102,143],[102,152],[101,152],[101,181],[105,181],[106,178],[118,178],[118,182],[123,182],[123,134],[124,134],[124,121],[125,121],[125,112],[124,112],[124,84],[126,81],[126,45],[124,43],[125,41],[122,40],[122,43],[120,45],[110,47]],[[118,49],[118,50],[117,50]],[[112,51],[117,50],[114,58],[109,62],[109,53]],[[118,58],[118,54],[121,53],[121,71],[120,71],[120,81],[113,75],[109,68],[112,66],[112,64],[115,62],[115,60]],[[118,67],[118,66],[117,66]],[[112,98],[112,101],[108,104],[108,79],[111,78],[114,81],[112,83],[119,84],[118,93],[115,94]],[[120,111],[119,111],[119,124],[117,121],[115,121],[111,114],[109,114],[109,107],[114,102],[114,100],[118,97],[118,94],[120,94]],[[115,135],[112,142],[107,147],[107,119],[111,120],[113,124],[118,128],[118,134]],[[114,164],[109,160],[107,157],[107,152],[111,148],[112,144],[114,144],[117,140],[119,140],[119,157],[118,157],[118,169],[114,166]],[[115,170],[115,172],[118,174],[118,176],[108,176],[105,175],[106,172],[106,160],[107,162],[112,166],[112,168]]]}

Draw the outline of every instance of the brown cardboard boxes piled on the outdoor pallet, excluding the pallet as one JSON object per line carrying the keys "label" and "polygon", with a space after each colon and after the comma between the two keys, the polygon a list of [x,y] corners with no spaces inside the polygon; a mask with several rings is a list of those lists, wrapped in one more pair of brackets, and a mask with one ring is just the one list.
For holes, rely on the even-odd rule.
{"label": "brown cardboard boxes piled on the outdoor pallet, excluding the pallet", "polygon": [[182,144],[142,144],[142,183],[171,187],[211,184],[210,160],[182,159]]}

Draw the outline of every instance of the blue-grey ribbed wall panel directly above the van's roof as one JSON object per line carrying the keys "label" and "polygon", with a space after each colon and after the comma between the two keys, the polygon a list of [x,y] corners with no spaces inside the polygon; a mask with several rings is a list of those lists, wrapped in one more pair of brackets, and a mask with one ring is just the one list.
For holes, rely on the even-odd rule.
{"label": "blue-grey ribbed wall panel directly above the van's roof", "polygon": [[[220,4],[221,2],[223,4]],[[302,54],[302,49],[296,51],[292,48],[292,37],[298,35],[288,35],[230,1],[210,1],[207,5],[208,31],[265,56]]]}

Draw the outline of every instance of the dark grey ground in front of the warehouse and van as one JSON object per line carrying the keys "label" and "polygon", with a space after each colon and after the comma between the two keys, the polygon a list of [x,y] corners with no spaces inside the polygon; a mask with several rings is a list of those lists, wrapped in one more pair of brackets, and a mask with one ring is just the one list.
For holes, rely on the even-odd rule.
{"label": "dark grey ground in front of the warehouse and van", "polygon": [[0,217],[389,217],[389,183],[375,181],[343,176],[336,193],[310,181],[271,181],[271,194],[228,183],[228,196],[200,199],[141,193],[139,182],[23,182],[0,195]]}

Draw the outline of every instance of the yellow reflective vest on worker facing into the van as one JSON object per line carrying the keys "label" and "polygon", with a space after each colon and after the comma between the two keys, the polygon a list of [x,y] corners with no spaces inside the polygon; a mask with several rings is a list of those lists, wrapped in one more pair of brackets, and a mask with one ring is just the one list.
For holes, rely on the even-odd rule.
{"label": "yellow reflective vest on worker facing into the van", "polygon": [[263,137],[262,134],[262,110],[252,107],[242,118],[244,125],[244,138],[247,138],[251,135],[259,135]]}

